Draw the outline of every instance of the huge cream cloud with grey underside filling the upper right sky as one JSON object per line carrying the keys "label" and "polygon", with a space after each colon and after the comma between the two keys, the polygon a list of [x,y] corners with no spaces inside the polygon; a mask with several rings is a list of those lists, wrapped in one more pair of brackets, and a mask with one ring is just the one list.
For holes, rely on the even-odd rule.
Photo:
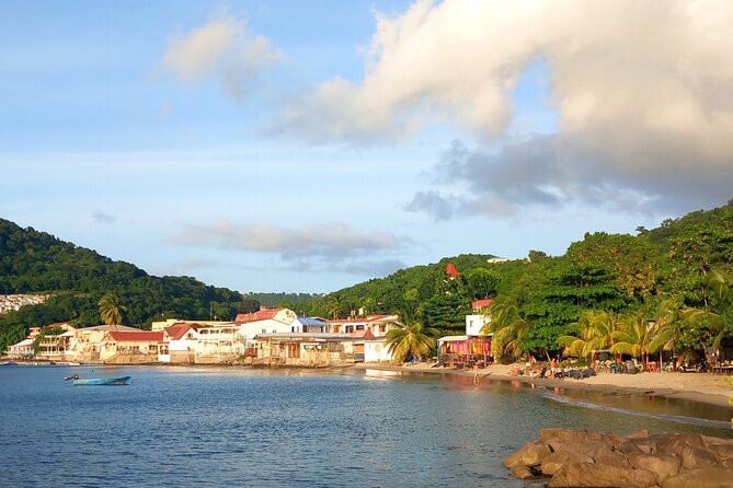
{"label": "huge cream cloud with grey underside filling the upper right sky", "polygon": [[[377,16],[362,79],[323,82],[283,124],[346,142],[462,129],[477,147],[438,173],[469,196],[437,188],[408,205],[438,219],[571,201],[718,205],[733,187],[732,25],[726,0],[419,0]],[[507,144],[512,89],[538,60],[557,132]]]}

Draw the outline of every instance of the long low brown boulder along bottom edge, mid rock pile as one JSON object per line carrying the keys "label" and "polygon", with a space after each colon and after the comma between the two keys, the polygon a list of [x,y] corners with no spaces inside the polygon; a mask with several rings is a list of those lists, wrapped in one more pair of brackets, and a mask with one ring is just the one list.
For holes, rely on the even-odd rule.
{"label": "long low brown boulder along bottom edge, mid rock pile", "polygon": [[646,469],[604,466],[600,464],[570,464],[562,466],[547,486],[548,488],[651,488],[656,486],[656,475]]}

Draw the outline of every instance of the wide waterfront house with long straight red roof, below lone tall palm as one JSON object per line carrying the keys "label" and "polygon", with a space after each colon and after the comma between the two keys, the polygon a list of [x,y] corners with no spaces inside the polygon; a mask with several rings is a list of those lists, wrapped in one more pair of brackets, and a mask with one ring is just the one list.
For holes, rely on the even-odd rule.
{"label": "wide waterfront house with long straight red roof, below lone tall palm", "polygon": [[102,339],[100,359],[105,363],[124,364],[157,362],[162,342],[162,332],[108,332]]}

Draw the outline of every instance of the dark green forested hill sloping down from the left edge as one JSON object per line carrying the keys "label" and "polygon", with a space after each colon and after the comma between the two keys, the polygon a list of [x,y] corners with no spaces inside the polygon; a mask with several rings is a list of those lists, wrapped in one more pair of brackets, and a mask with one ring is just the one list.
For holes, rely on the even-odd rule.
{"label": "dark green forested hill sloping down from the left edge", "polygon": [[190,277],[149,276],[136,266],[62,242],[53,235],[0,219],[0,292],[50,293],[42,305],[26,306],[0,319],[0,351],[25,337],[30,326],[71,321],[100,324],[98,302],[113,293],[126,307],[128,325],[146,326],[161,317],[232,319],[259,307],[236,291],[206,286]]}

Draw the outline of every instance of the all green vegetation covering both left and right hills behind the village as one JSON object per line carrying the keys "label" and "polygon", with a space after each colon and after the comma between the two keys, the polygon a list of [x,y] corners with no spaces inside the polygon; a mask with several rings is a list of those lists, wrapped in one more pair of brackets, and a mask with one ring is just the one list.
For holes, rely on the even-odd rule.
{"label": "all green vegetation covering both left and right hills behind the village", "polygon": [[[638,228],[635,235],[588,233],[561,256],[537,249],[514,260],[459,255],[321,295],[241,295],[190,277],[152,277],[2,220],[0,251],[0,290],[53,295],[0,318],[0,349],[30,326],[99,323],[107,293],[127,309],[119,309],[121,322],[142,327],[170,316],[233,318],[262,298],[327,318],[410,310],[420,326],[404,328],[404,337],[463,334],[471,301],[492,298],[485,332],[507,359],[608,350],[642,362],[660,355],[682,360],[733,340],[733,201],[657,229]],[[449,264],[458,276],[446,272]],[[393,336],[390,344],[402,344]]]}

